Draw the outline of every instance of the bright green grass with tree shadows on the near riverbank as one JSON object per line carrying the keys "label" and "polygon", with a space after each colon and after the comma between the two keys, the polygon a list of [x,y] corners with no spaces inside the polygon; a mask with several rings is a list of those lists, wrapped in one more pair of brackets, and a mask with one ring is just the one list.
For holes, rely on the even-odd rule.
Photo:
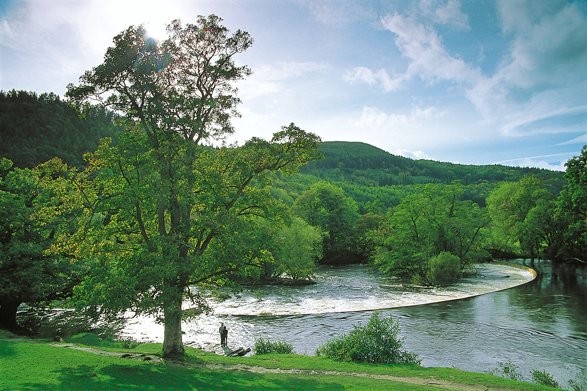
{"label": "bright green grass with tree shadows on the near riverbank", "polygon": [[[0,334],[0,338],[3,338]],[[66,342],[92,345],[103,350],[158,354],[160,344],[123,349],[118,342],[93,335],[78,335]],[[185,366],[157,365],[96,355],[42,343],[0,339],[0,390],[440,390],[434,386],[359,378],[347,375],[251,373],[243,370],[203,369],[201,365],[263,366],[281,369],[311,369],[369,373],[402,377],[445,379],[463,384],[512,387],[518,390],[553,390],[550,387],[515,382],[483,373],[417,365],[364,365],[340,363],[302,355],[262,355],[229,358],[186,348]]]}

